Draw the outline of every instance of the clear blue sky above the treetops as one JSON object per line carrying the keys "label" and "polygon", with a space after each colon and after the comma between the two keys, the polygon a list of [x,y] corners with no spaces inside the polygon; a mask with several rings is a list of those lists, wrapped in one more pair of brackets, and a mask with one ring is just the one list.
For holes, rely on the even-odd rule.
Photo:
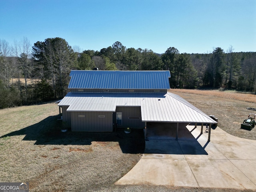
{"label": "clear blue sky above the treetops", "polygon": [[0,39],[24,37],[95,51],[119,41],[156,53],[256,52],[256,0],[0,0]]}

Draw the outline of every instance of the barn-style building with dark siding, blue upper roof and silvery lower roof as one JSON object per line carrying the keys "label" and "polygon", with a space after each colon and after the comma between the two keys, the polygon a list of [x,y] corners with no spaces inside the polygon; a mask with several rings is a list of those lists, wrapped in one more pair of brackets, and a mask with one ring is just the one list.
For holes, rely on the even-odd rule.
{"label": "barn-style building with dark siding, blue upper roof and silvery lower roof", "polygon": [[172,122],[177,123],[178,132],[179,123],[216,123],[180,96],[167,92],[170,71],[72,70],[70,76],[70,92],[58,106],[72,131],[146,129],[147,122]]}

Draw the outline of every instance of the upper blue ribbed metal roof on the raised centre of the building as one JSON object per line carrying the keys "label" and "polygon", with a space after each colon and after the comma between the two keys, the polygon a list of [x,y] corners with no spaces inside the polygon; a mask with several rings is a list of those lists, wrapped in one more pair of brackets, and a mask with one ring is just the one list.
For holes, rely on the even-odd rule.
{"label": "upper blue ribbed metal roof on the raised centre of the building", "polygon": [[72,70],[68,88],[170,89],[170,71]]}

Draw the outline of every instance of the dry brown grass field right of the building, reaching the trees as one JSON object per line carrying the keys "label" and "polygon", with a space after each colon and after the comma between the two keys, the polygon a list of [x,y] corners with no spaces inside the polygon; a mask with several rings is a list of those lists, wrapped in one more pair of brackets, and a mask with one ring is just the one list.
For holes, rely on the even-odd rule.
{"label": "dry brown grass field right of the building, reaching the trees", "polygon": [[[256,108],[255,104],[224,98],[224,93],[221,94],[223,97],[218,97],[213,94],[215,91],[209,91],[212,92],[211,94],[200,94],[200,90],[195,91],[197,94],[192,94],[191,90],[187,90],[187,92],[186,90],[181,90],[183,92],[180,92],[179,89],[172,89],[169,91],[178,94],[207,115],[214,115],[218,118],[218,126],[227,133],[241,138],[256,140],[256,127],[251,131],[240,128],[241,123],[248,117],[249,113],[256,113],[256,111],[247,109],[247,107]],[[232,96],[238,98],[240,94],[232,93]]]}

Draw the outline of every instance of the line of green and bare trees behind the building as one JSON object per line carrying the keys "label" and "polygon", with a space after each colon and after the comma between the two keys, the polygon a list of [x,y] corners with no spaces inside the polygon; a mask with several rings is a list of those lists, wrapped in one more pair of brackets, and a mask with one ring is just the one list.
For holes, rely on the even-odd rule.
{"label": "line of green and bare trees behind the building", "polygon": [[[256,91],[256,52],[207,54],[180,53],[174,47],[164,54],[126,48],[120,42],[100,51],[80,51],[63,38],[30,44],[27,38],[10,45],[0,40],[0,108],[60,99],[68,92],[71,70],[170,70],[171,88],[228,88]],[[30,80],[34,80],[33,83]]]}

